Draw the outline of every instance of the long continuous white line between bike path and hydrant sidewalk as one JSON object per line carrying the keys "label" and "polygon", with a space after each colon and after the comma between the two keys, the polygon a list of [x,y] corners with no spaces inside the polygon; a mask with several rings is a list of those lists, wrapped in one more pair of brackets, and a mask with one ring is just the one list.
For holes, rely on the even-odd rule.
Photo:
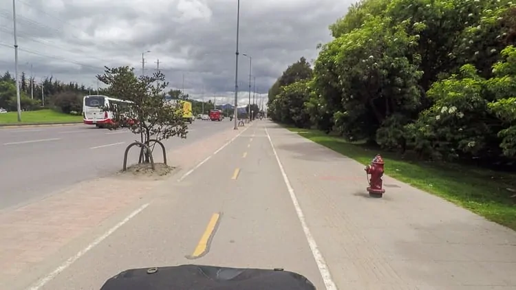
{"label": "long continuous white line between bike path and hydrant sidewalk", "polygon": [[283,181],[285,181],[285,185],[287,186],[288,193],[290,194],[290,199],[292,199],[292,203],[294,204],[294,208],[296,209],[297,218],[299,222],[301,222],[301,227],[303,227],[303,232],[305,232],[306,241],[308,241],[308,245],[310,245],[310,249],[312,250],[312,256],[314,256],[315,263],[319,268],[319,273],[321,273],[321,277],[323,278],[324,285],[326,290],[337,290],[338,288],[333,281],[332,274],[330,273],[330,269],[324,260],[323,254],[319,251],[319,247],[317,247],[317,243],[315,242],[314,237],[312,236],[312,232],[310,232],[310,228],[305,220],[305,214],[303,214],[303,210],[301,210],[301,206],[299,205],[299,201],[297,200],[296,193],[294,192],[294,188],[290,185],[290,181],[288,180],[285,169],[283,169],[283,165],[279,160],[278,153],[276,152],[276,148],[274,144],[272,144],[272,140],[270,139],[269,132],[267,131],[267,127],[264,126],[265,133],[267,134],[270,146],[272,147],[272,152],[276,157],[276,161],[279,166],[279,170],[281,171],[281,175],[283,175]]}

